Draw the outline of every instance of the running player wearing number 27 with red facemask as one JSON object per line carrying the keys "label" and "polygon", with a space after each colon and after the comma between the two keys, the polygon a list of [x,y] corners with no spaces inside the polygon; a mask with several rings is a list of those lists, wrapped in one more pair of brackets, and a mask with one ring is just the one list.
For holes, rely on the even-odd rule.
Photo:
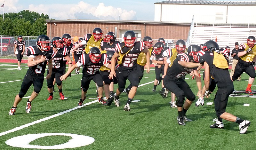
{"label": "running player wearing number 27 with red facemask", "polygon": [[137,71],[137,58],[140,52],[146,53],[146,70],[149,72],[149,51],[145,47],[144,42],[136,41],[136,34],[133,31],[126,31],[124,33],[124,42],[116,44],[116,53],[111,60],[111,72],[109,75],[110,79],[116,76],[115,66],[116,58],[119,64],[118,67],[118,89],[115,94],[115,104],[117,107],[120,106],[119,96],[124,91],[126,80],[128,79],[132,83],[132,89],[128,94],[126,105],[124,106],[125,111],[130,111],[130,104],[134,98],[140,79]]}

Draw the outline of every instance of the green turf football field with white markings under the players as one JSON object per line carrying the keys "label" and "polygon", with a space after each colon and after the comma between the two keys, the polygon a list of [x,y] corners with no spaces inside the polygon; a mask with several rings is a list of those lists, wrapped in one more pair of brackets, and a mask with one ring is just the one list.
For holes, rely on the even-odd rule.
{"label": "green turf football field with white markings under the players", "polygon": [[[16,115],[10,116],[8,112],[15,96],[20,91],[20,85],[28,67],[22,64],[21,68],[21,71],[17,70],[16,63],[0,63],[0,106],[2,108],[0,110],[0,149],[29,149],[12,147],[5,143],[11,138],[24,135],[27,136],[21,139],[30,139],[28,143],[32,149],[65,148],[61,145],[71,139],[70,136],[53,134],[34,140],[34,136],[29,135],[43,133],[67,133],[95,139],[92,144],[81,146],[89,139],[78,138],[75,144],[71,144],[75,148],[66,148],[68,150],[255,149],[254,106],[256,97],[242,94],[242,97],[230,97],[228,100],[227,112],[251,121],[247,134],[240,135],[238,124],[235,122],[223,120],[224,129],[209,128],[214,123],[212,120],[216,118],[214,104],[195,107],[194,102],[187,112],[187,117],[193,121],[186,122],[186,126],[178,125],[177,108],[171,108],[169,104],[170,94],[168,98],[162,98],[158,93],[160,86],[157,86],[157,92],[152,92],[153,83],[149,82],[155,79],[154,70],[151,70],[150,74],[144,74],[140,84],[149,84],[138,88],[134,100],[140,101],[131,103],[130,112],[123,111],[127,100],[125,93],[120,96],[120,107],[116,107],[114,103],[111,106],[103,106],[95,101],[93,98],[97,98],[97,95],[93,82],[91,82],[84,104],[91,103],[78,108],[76,106],[81,97],[82,75],[73,75],[75,74],[73,71],[72,76],[63,82],[62,90],[68,99],[59,100],[59,94],[55,92],[53,100],[46,100],[49,93],[46,81],[44,81],[39,96],[32,102],[31,112],[25,113],[28,98],[23,98],[16,109]],[[196,81],[191,80],[189,75],[186,78],[188,78],[186,81],[191,89],[196,93]],[[248,83],[245,80],[248,80],[248,75],[243,74],[241,82],[234,82],[235,89],[245,90]],[[255,89],[255,84],[253,84],[252,90]],[[30,87],[25,97],[30,96],[32,91],[33,86]],[[205,104],[213,102],[215,92],[216,90],[209,99],[205,99]],[[245,103],[250,106],[244,106]],[[10,143],[17,144],[19,141],[11,140]],[[24,144],[24,142],[21,143]],[[54,145],[60,146],[51,147]]]}

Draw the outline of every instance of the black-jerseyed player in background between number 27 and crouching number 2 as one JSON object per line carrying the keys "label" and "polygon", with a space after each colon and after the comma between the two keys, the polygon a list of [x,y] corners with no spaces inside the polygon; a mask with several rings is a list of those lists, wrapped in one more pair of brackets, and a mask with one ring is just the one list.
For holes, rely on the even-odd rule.
{"label": "black-jerseyed player in background between number 27 and crouching number 2", "polygon": [[[157,66],[155,66],[155,72],[156,72],[156,79],[154,81],[154,88],[153,88],[153,92],[156,91],[156,86],[157,86],[157,83],[158,81],[160,80],[161,78],[161,74],[164,75],[164,57],[163,57],[163,50],[164,50],[164,43],[162,42],[157,42],[154,46],[154,50],[152,52],[152,54],[154,54],[154,58],[152,60],[152,62],[154,64],[157,64]],[[162,83],[162,91],[165,91],[165,88],[164,88],[164,84]]]}

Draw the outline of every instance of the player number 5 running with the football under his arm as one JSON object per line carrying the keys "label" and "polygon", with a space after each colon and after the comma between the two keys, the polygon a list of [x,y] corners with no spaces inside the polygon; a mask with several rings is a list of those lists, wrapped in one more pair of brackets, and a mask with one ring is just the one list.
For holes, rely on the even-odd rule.
{"label": "player number 5 running with the football under his arm", "polygon": [[[45,79],[49,79],[52,75],[52,57],[54,57],[54,51],[50,49],[50,38],[45,35],[40,35],[36,39],[36,46],[29,46],[26,49],[26,55],[28,56],[28,71],[23,79],[20,87],[19,94],[14,99],[14,104],[9,112],[9,115],[14,115],[17,105],[20,103],[24,95],[27,93],[29,87],[33,84],[34,91],[27,101],[26,113],[31,111],[31,102],[34,100],[43,87],[44,72],[46,64],[48,62],[49,74]],[[36,59],[41,56],[40,59]]]}

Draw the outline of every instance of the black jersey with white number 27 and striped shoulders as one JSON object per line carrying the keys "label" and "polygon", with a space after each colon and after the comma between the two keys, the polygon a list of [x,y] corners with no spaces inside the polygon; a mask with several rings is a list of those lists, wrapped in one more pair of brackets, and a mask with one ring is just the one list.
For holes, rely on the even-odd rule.
{"label": "black jersey with white number 27 and striped shoulders", "polygon": [[119,67],[124,67],[128,70],[137,66],[137,58],[139,57],[140,52],[145,48],[144,42],[138,41],[135,42],[133,47],[130,48],[125,46],[124,42],[116,44],[116,52],[119,53],[119,56],[125,54],[129,51],[124,58],[122,59],[122,64]]}

